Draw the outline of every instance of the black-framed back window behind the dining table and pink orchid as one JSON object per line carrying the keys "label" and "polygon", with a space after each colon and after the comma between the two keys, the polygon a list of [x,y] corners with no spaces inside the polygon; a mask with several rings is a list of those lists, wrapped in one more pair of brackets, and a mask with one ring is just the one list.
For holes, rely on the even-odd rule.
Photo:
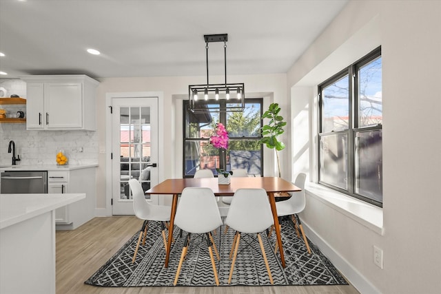
{"label": "black-framed back window behind the dining table and pink orchid", "polygon": [[[198,101],[199,107],[220,109],[220,112],[194,114],[183,103],[183,177],[191,178],[198,169],[216,168],[220,160],[227,162],[227,169],[247,169],[248,174],[263,176],[263,147],[260,140],[262,127],[262,98],[245,100],[243,112],[224,112],[226,101]],[[223,123],[229,134],[226,153],[209,144],[216,123]]]}

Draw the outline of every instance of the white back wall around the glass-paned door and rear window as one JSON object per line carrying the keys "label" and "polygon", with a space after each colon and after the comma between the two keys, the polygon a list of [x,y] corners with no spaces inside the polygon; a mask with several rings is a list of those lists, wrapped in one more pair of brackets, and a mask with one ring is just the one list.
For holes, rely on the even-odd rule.
{"label": "white back wall around the glass-paned door and rear window", "polygon": [[[97,90],[97,133],[99,134],[99,149],[105,149],[105,112],[109,111],[105,107],[105,94],[114,92],[162,92],[164,113],[159,114],[159,122],[163,124],[163,142],[160,142],[164,149],[164,162],[158,166],[159,181],[166,178],[182,177],[182,99],[187,98],[188,85],[205,83],[206,76],[182,76],[182,77],[151,77],[151,78],[99,78],[101,82]],[[216,83],[218,77],[210,76],[210,81]],[[245,94],[247,98],[263,97],[264,109],[269,103],[275,101],[284,107],[283,116],[288,115],[287,109],[287,85],[285,74],[268,74],[252,76],[228,76],[229,82],[245,83]],[[289,133],[284,138],[289,141]],[[97,197],[96,206],[99,209],[105,209],[105,164],[106,156],[110,156],[110,150],[99,154],[99,168],[97,170]],[[265,169],[266,176],[274,176],[274,160],[271,156],[274,152],[265,148]],[[280,156],[282,174],[286,178],[291,177],[290,166],[287,164],[289,152],[281,152]],[[268,158],[268,161],[267,161]],[[286,163],[285,163],[286,162]]]}

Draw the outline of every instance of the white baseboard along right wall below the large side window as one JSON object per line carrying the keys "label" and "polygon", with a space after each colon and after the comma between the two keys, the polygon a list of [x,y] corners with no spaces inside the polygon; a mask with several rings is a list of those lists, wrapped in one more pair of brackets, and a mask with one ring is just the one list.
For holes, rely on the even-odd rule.
{"label": "white baseboard along right wall below the large side window", "polygon": [[[300,219],[301,220],[301,219]],[[362,294],[379,294],[381,293],[371,282],[358,272],[353,266],[339,255],[329,244],[323,240],[316,231],[312,230],[306,222],[301,220],[305,234],[311,241],[316,244],[318,249],[336,266],[338,271],[344,275],[347,280]]]}

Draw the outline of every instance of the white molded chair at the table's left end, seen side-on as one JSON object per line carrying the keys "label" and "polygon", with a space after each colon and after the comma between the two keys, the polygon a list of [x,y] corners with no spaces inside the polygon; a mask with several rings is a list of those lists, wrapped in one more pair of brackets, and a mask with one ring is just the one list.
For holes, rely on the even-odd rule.
{"label": "white molded chair at the table's left end, seen side-on", "polygon": [[172,207],[168,207],[164,205],[154,205],[147,202],[145,200],[145,195],[141,183],[134,178],[129,180],[129,186],[130,186],[130,190],[132,191],[133,210],[135,216],[141,220],[144,220],[143,226],[139,231],[138,244],[136,244],[135,253],[132,259],[132,263],[134,263],[136,259],[136,253],[138,253],[139,243],[141,242],[141,237],[143,234],[144,234],[143,245],[145,244],[145,237],[147,235],[149,220],[161,222],[161,227],[163,229],[162,235],[163,235],[164,247],[165,249],[167,248],[167,240],[165,239],[165,227],[167,227],[167,229],[170,228],[168,228],[165,222],[170,221],[170,213],[172,211]]}

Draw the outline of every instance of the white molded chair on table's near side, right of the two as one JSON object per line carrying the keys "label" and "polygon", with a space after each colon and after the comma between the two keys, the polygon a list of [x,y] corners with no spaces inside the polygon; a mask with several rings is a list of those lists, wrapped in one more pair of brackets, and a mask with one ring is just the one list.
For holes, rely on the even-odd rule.
{"label": "white molded chair on table's near side, right of the two", "polygon": [[234,263],[239,249],[240,235],[242,233],[256,233],[260,244],[260,250],[262,251],[265,265],[267,266],[267,272],[271,284],[273,284],[273,278],[271,276],[271,270],[263,248],[262,238],[260,232],[265,231],[274,224],[273,214],[271,212],[271,206],[269,204],[267,192],[264,189],[238,189],[234,193],[232,204],[229,207],[225,224],[236,230],[234,240],[232,244],[232,250],[229,254],[229,258],[232,258],[234,252],[234,258],[232,261],[232,267],[229,270],[228,284],[232,281]]}

